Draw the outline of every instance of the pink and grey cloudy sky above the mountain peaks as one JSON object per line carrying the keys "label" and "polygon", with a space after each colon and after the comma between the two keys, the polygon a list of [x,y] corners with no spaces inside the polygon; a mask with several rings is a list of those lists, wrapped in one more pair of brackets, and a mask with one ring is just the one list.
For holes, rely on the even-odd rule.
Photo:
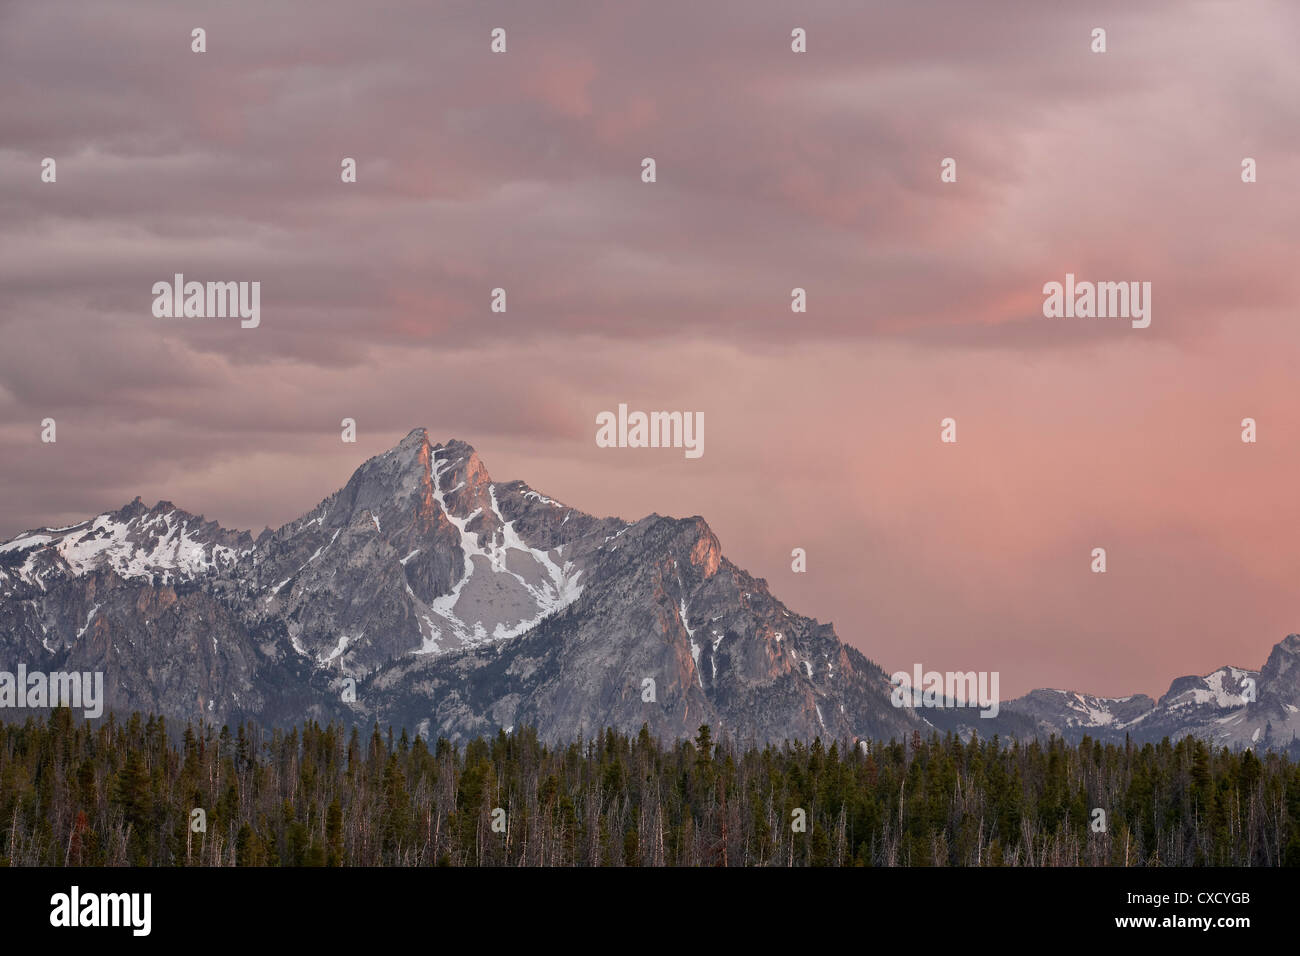
{"label": "pink and grey cloudy sky above the mountain peaks", "polygon": [[[1257,667],[1300,631],[1296,36],[1286,0],[0,0],[0,537],[136,494],[278,525],[424,425],[703,515],[887,670]],[[261,326],[153,317],[177,272],[260,281]],[[1044,319],[1066,272],[1152,282],[1150,328]],[[620,402],[702,411],[703,458],[597,447]]]}

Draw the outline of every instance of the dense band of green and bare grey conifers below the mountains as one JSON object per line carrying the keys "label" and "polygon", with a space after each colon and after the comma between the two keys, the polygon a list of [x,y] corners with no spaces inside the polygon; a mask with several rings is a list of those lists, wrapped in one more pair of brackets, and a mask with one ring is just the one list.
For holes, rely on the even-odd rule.
{"label": "dense band of green and bare grey conifers below the mountains", "polygon": [[[1100,812],[1100,813],[1098,813]],[[1300,766],[1187,737],[463,748],[56,710],[0,726],[10,866],[1295,866]]]}

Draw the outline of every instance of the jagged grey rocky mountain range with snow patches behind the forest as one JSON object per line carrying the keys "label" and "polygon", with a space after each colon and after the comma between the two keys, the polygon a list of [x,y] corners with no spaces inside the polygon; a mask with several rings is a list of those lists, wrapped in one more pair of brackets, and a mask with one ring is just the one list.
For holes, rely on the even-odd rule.
{"label": "jagged grey rocky mountain range with snow patches behind the forest", "polygon": [[989,719],[894,708],[879,666],[732,564],[702,518],[594,518],[495,484],[469,445],[422,428],[256,538],[136,498],[0,545],[0,671],[101,671],[108,709],[178,722],[378,721],[454,740],[708,723],[759,743],[937,727],[1286,749],[1297,658],[1291,635],[1260,671],[1179,678],[1158,702],[1034,691]]}

